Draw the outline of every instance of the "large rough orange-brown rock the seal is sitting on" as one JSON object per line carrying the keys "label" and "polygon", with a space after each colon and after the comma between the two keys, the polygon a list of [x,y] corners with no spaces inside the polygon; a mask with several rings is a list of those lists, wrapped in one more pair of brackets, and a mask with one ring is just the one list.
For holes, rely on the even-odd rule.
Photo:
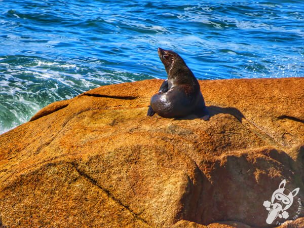
{"label": "large rough orange-brown rock the seal is sitting on", "polygon": [[99,87],[1,135],[0,226],[273,227],[263,202],[286,179],[282,227],[303,227],[304,79],[200,81],[209,121],[147,117],[161,83]]}

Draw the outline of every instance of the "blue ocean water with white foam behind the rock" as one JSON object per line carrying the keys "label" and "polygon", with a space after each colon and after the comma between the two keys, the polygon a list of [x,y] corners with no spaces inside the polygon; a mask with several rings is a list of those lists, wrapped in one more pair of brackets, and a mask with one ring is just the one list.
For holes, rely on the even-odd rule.
{"label": "blue ocean water with white foam behind the rock", "polygon": [[0,133],[101,85],[166,78],[157,48],[198,79],[302,77],[304,1],[0,0]]}

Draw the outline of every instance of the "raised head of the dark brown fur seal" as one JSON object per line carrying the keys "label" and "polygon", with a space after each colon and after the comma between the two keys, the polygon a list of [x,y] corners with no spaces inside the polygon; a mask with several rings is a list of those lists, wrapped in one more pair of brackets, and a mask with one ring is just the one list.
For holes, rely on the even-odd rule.
{"label": "raised head of the dark brown fur seal", "polygon": [[164,64],[167,73],[173,65],[185,65],[183,59],[174,51],[158,48],[159,57]]}

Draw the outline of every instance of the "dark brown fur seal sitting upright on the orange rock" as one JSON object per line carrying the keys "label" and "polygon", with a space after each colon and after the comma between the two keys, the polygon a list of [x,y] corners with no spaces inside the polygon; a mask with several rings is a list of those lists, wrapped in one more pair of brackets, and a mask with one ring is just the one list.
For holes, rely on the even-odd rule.
{"label": "dark brown fur seal sitting upright on the orange rock", "polygon": [[147,116],[157,113],[165,118],[181,118],[191,114],[208,120],[198,80],[175,52],[158,48],[158,54],[168,74],[157,94],[151,97]]}

